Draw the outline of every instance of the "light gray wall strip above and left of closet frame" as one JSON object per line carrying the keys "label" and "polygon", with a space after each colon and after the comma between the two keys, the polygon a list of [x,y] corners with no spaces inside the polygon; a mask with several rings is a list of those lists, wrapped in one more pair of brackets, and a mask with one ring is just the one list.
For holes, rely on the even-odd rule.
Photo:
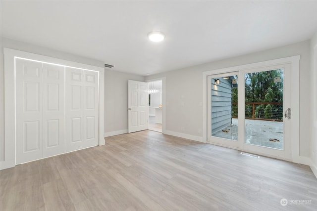
{"label": "light gray wall strip above and left of closet frame", "polygon": [[22,50],[22,51],[26,51],[26,52],[36,53],[36,54],[40,54],[40,55],[50,56],[50,57],[69,60],[69,61],[74,61],[74,62],[83,63],[83,64],[89,64],[89,65],[93,65],[93,66],[97,66],[97,67],[104,67],[104,62],[102,62],[102,61],[89,59],[89,58],[82,57],[79,55],[73,55],[73,54],[61,52],[61,51],[54,50],[54,49],[48,49],[48,48],[45,48],[42,46],[32,45],[32,44],[28,44],[28,43],[24,43],[24,42],[17,42],[14,40],[0,37],[0,51],[1,51],[1,53],[0,53],[0,161],[4,160],[4,157],[3,157],[4,156],[3,47],[12,48],[12,49],[16,49],[16,50]]}

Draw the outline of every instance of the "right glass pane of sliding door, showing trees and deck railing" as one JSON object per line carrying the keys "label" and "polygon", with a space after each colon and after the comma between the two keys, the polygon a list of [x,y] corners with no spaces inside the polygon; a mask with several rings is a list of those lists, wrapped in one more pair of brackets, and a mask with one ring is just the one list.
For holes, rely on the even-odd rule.
{"label": "right glass pane of sliding door, showing trees and deck railing", "polygon": [[244,74],[245,143],[283,150],[284,70]]}

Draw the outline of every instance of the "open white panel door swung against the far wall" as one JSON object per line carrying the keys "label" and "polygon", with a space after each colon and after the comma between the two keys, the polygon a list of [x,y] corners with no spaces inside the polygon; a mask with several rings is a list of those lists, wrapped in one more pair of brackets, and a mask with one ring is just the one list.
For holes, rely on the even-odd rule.
{"label": "open white panel door swung against the far wall", "polygon": [[148,129],[148,85],[128,81],[128,132]]}

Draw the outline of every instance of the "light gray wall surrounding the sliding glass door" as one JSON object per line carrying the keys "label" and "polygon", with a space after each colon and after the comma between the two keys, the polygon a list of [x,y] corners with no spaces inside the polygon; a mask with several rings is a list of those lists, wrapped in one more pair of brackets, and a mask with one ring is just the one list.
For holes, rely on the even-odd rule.
{"label": "light gray wall surrounding the sliding glass door", "polygon": [[[301,55],[300,60],[300,155],[310,157],[310,41],[294,43],[207,64],[147,76],[166,77],[166,130],[202,140],[203,72],[226,67]],[[183,127],[183,130],[182,130]]]}

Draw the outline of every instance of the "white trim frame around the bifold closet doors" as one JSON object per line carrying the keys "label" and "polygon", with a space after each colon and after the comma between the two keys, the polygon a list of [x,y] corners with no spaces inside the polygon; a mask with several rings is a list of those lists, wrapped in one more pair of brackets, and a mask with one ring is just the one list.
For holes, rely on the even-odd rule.
{"label": "white trim frame around the bifold closet doors", "polygon": [[99,145],[105,145],[104,139],[104,92],[105,69],[102,67],[29,53],[11,48],[3,48],[4,54],[4,149],[1,154],[0,169],[15,166],[15,57],[55,64],[83,70],[99,72]]}

